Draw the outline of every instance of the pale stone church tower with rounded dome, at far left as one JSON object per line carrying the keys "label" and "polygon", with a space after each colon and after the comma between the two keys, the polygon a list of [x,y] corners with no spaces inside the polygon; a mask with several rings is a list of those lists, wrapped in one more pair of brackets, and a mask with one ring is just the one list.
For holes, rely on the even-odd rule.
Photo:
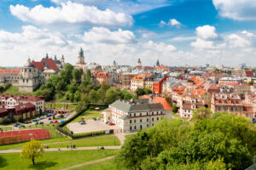
{"label": "pale stone church tower with rounded dome, at far left", "polygon": [[31,59],[27,59],[20,71],[19,91],[33,92],[39,85],[38,69],[32,64]]}

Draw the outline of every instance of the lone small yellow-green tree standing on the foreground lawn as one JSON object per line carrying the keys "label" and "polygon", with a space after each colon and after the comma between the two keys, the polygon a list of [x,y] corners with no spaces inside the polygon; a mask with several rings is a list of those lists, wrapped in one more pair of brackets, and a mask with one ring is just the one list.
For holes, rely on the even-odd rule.
{"label": "lone small yellow-green tree standing on the foreground lawn", "polygon": [[44,149],[40,142],[31,139],[30,142],[24,144],[20,157],[24,157],[32,160],[32,164],[35,165],[35,158],[43,156]]}

